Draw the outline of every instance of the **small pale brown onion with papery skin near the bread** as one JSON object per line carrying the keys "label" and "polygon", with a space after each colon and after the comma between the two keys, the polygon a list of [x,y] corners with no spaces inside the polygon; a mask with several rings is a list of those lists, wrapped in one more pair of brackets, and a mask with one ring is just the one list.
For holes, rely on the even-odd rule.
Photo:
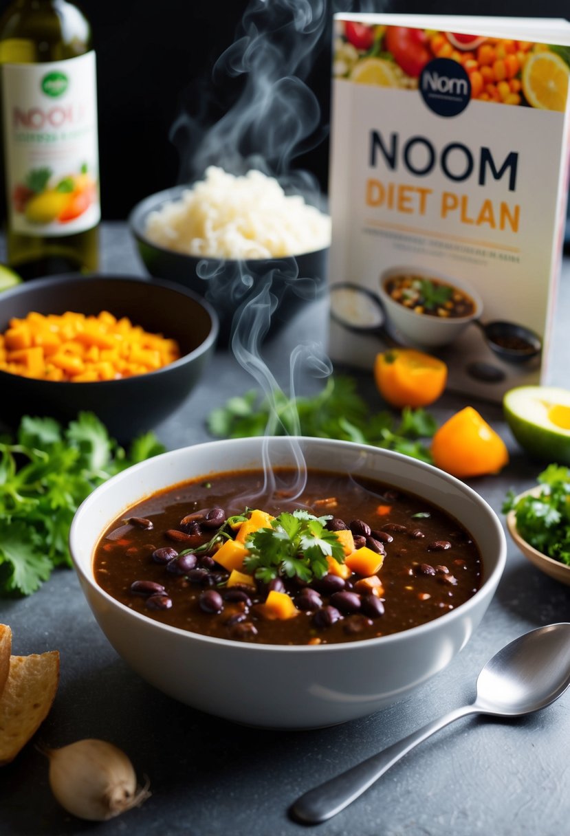
{"label": "small pale brown onion with papery skin near the bread", "polygon": [[149,782],[137,786],[129,758],[112,743],[85,739],[60,749],[44,749],[49,786],[68,813],[102,822],[138,807],[149,798]]}

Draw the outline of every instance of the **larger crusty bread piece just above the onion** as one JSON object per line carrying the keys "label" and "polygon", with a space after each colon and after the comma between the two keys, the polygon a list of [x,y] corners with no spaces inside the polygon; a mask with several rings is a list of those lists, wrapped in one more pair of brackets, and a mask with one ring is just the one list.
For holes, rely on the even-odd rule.
{"label": "larger crusty bread piece just above the onion", "polygon": [[37,732],[59,683],[59,652],[11,656],[0,696],[0,766],[13,761]]}

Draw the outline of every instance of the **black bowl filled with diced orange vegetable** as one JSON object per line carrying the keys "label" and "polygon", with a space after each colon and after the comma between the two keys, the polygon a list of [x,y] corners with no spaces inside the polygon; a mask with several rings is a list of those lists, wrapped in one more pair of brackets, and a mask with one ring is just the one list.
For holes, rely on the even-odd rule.
{"label": "black bowl filled with diced orange vegetable", "polygon": [[63,275],[0,294],[0,422],[98,415],[128,441],[190,395],[216,345],[211,305],[186,288]]}

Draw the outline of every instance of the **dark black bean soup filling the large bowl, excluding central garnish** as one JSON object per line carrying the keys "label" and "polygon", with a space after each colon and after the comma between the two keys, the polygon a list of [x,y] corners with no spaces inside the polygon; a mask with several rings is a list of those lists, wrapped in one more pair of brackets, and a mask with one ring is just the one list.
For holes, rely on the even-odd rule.
{"label": "dark black bean soup filling the large bowl, excluding central garnish", "polygon": [[[273,645],[331,644],[408,630],[455,609],[481,585],[481,555],[449,514],[373,480],[310,470],[295,505],[329,515],[326,528],[352,533],[354,548],[379,555],[381,567],[371,577],[341,565],[338,573],[309,583],[281,575],[242,584],[233,576],[228,585],[230,571],[216,563],[219,543],[206,552],[200,547],[215,538],[226,517],[243,513],[248,503],[240,500],[237,508],[235,497],[256,496],[262,484],[260,471],[221,473],[138,503],[97,544],[97,583],[164,624]],[[286,497],[257,498],[255,507],[273,515],[291,511]],[[267,617],[264,604],[272,591],[290,599],[288,617]]]}

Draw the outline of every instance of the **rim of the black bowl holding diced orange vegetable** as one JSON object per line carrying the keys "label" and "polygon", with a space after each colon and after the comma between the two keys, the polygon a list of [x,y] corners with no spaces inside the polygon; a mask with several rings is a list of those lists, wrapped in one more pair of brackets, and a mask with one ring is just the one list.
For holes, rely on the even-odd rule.
{"label": "rim of the black bowl holding diced orange vegetable", "polygon": [[[119,378],[118,380],[92,380],[92,381],[82,381],[78,383],[74,383],[72,380],[42,380],[41,378],[30,378],[30,377],[23,377],[21,375],[13,375],[12,372],[0,370],[0,381],[3,380],[13,380],[14,377],[17,377],[18,380],[22,381],[20,385],[44,385],[44,386],[52,386],[56,384],[62,387],[73,386],[74,390],[77,389],[79,386],[100,386],[102,383],[107,385],[121,385],[125,384],[125,380],[139,380],[140,378],[149,378],[155,377],[156,375],[164,374],[166,370],[178,369],[181,366],[190,363],[192,360],[200,357],[202,354],[206,354],[211,348],[216,345],[216,341],[218,338],[218,334],[220,331],[220,319],[216,314],[215,308],[211,305],[207,299],[202,298],[198,293],[191,290],[190,288],[186,288],[184,285],[177,284],[176,282],[170,282],[166,279],[150,279],[146,278],[145,276],[135,276],[129,275],[128,273],[88,273],[86,275],[78,274],[78,273],[59,273],[56,276],[45,276],[43,278],[35,278],[33,281],[30,282],[22,282],[17,284],[13,288],[8,288],[8,290],[2,293],[0,296],[0,303],[4,301],[10,301],[13,297],[23,296],[26,293],[31,293],[34,289],[37,288],[51,288],[51,287],[58,287],[59,285],[65,285],[66,283],[98,283],[98,282],[128,282],[132,284],[140,284],[140,285],[148,285],[149,287],[159,287],[165,288],[165,290],[174,291],[176,293],[180,293],[182,296],[186,296],[191,298],[200,305],[206,311],[206,314],[210,317],[211,327],[208,331],[206,339],[204,339],[201,344],[197,345],[195,349],[187,352],[186,354],[182,354],[177,360],[174,360],[172,363],[169,363],[165,366],[160,366],[160,369],[153,369],[150,371],[146,371],[144,374],[140,375],[132,375],[129,378]],[[104,309],[103,307],[101,308]],[[23,381],[26,381],[25,383]]]}

